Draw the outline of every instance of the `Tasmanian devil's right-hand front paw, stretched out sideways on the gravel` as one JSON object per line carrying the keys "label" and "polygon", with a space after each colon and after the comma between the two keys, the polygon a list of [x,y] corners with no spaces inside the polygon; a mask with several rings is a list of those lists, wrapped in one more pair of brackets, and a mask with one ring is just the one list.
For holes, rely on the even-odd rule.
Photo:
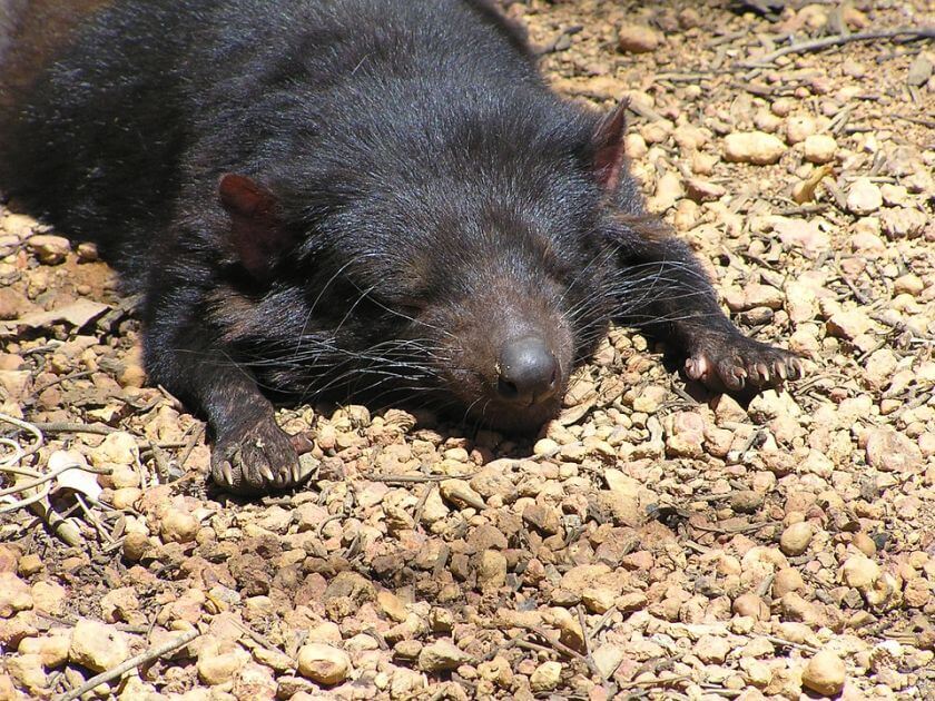
{"label": "Tasmanian devil's right-hand front paw, stretched out sideways on the gravel", "polygon": [[712,389],[736,392],[769,387],[803,375],[799,357],[742,334],[711,335],[697,339],[685,372]]}

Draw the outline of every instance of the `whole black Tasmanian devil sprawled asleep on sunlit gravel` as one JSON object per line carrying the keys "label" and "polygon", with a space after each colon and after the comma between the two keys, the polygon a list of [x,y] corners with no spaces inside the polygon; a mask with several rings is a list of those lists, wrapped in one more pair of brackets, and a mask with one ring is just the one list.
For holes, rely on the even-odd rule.
{"label": "whole black Tasmanian devil sprawled asleep on sunlit gravel", "polygon": [[646,213],[624,107],[550,91],[491,0],[69,4],[3,17],[0,188],[145,294],[149,376],[208,419],[219,485],[306,476],[276,397],[534,430],[611,320],[711,386],[800,373]]}

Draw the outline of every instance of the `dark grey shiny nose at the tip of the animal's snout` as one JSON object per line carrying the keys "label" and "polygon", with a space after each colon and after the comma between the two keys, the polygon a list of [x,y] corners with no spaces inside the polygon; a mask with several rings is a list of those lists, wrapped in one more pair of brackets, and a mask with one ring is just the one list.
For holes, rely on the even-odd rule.
{"label": "dark grey shiny nose at the tip of the animal's snout", "polygon": [[496,392],[504,399],[531,405],[555,394],[559,364],[542,338],[511,340],[500,352]]}

